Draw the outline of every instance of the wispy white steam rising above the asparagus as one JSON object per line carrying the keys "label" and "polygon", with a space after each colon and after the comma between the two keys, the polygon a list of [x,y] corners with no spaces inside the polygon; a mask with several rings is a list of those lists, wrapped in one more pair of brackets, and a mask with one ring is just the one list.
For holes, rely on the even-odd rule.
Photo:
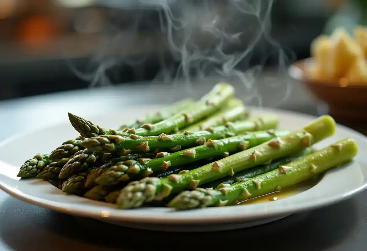
{"label": "wispy white steam rising above the asparagus", "polygon": [[[146,3],[142,2],[139,1],[144,6]],[[138,35],[139,25],[149,23],[145,12],[126,11],[130,17],[131,12],[138,14],[128,27],[121,27],[119,22],[113,24],[110,28],[113,37],[91,61],[92,73],[81,73],[72,68],[75,74],[90,81],[91,87],[110,84],[111,74],[107,73],[121,71],[121,66],[128,65],[136,70],[135,77],[141,76],[141,66],[148,57],[147,54],[138,56],[136,49],[152,48],[160,54],[161,68],[152,83],[172,83],[172,91],[178,85],[184,85],[185,95],[192,95],[194,85],[212,79],[213,84],[219,81],[240,83],[235,84],[237,95],[247,103],[255,100],[258,105],[263,105],[264,92],[275,94],[272,95],[272,106],[287,99],[290,85],[283,80],[293,54],[282,48],[270,34],[272,0],[158,0],[156,5],[159,6],[160,30],[154,39]],[[124,15],[121,10],[116,14]],[[164,55],[166,48],[170,57],[179,62],[178,67]],[[260,54],[261,60],[251,67],[254,53]],[[265,62],[275,55],[278,75],[258,84],[256,80],[261,78]]]}

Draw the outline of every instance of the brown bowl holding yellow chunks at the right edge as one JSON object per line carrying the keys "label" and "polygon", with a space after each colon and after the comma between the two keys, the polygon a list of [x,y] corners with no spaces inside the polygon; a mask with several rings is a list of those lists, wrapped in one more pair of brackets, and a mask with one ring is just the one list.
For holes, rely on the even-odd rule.
{"label": "brown bowl holding yellow chunks at the right edge", "polygon": [[295,62],[289,75],[303,83],[318,99],[328,105],[328,114],[339,123],[367,132],[367,83],[349,83],[346,79],[314,79],[307,69],[312,59]]}

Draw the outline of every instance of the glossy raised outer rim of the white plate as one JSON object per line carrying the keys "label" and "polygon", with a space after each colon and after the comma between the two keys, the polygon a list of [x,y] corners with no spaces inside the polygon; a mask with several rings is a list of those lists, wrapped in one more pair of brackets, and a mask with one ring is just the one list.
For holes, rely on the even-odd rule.
{"label": "glossy raised outer rim of the white plate", "polygon": [[[292,114],[296,114],[297,116],[301,116],[304,119],[315,119],[317,116],[313,116],[313,115],[309,115],[309,114],[304,114],[304,113],[298,113],[298,112],[294,112],[294,111],[290,111],[290,110],[283,110],[283,109],[276,109],[276,108],[259,108],[256,106],[248,106],[251,110],[254,111],[261,111],[261,112],[274,112],[274,113],[278,113],[279,116],[281,115],[286,115],[286,116],[291,116]],[[142,107],[143,108],[143,107]],[[150,107],[151,109],[152,107]],[[141,108],[139,108],[141,109]],[[154,108],[153,108],[154,109]],[[113,113],[113,112],[112,112]],[[94,118],[98,118],[98,117],[104,117],[105,115],[100,115],[100,116],[94,116]],[[57,123],[57,124],[52,124],[52,125],[47,125],[45,127],[40,127],[37,128],[35,130],[30,130],[27,132],[23,132],[20,134],[15,134],[7,139],[5,139],[4,141],[0,142],[0,147],[4,146],[6,143],[20,138],[26,134],[30,134],[30,133],[34,133],[37,132],[39,130],[41,130],[42,128],[52,128],[52,127],[57,127],[57,126],[61,126],[63,124],[66,123]],[[353,133],[354,135],[360,137],[360,139],[366,141],[367,144],[367,137],[363,134],[361,134],[360,132],[357,132],[355,130],[353,130],[352,128],[346,127],[344,125],[341,124],[337,124],[338,128],[342,128],[343,130],[349,131],[351,133]],[[2,174],[0,174],[2,175]],[[5,175],[3,175],[5,176]],[[47,181],[45,181],[47,182]],[[50,186],[52,186],[51,184],[49,184]],[[327,198],[321,198],[318,200],[313,201],[312,204],[310,204],[309,202],[305,202],[305,203],[297,203],[296,205],[292,205],[289,206],[287,208],[283,208],[281,210],[275,211],[275,212],[260,212],[260,213],[252,213],[250,216],[246,215],[246,214],[232,214],[232,215],[224,215],[222,217],[217,217],[217,218],[213,218],[209,215],[209,217],[206,215],[205,217],[203,217],[202,215],[199,217],[182,217],[182,216],[178,216],[178,217],[152,217],[152,216],[142,216],[142,215],[131,215],[131,214],[127,214],[127,215],[113,215],[113,214],[109,214],[109,220],[115,220],[115,221],[125,221],[125,222],[145,222],[145,223],[156,223],[156,224],[189,224],[189,225],[195,225],[195,224],[200,224],[200,223],[219,223],[219,222],[228,222],[228,221],[247,221],[247,220],[251,220],[251,219],[258,219],[258,218],[264,218],[264,217],[273,217],[279,214],[292,214],[295,212],[303,212],[303,211],[309,211],[312,209],[316,209],[316,208],[320,208],[320,207],[324,207],[330,204],[335,204],[338,203],[340,201],[346,200],[350,197],[352,197],[353,195],[362,192],[363,190],[365,190],[367,188],[367,182],[362,183],[359,187],[352,189],[352,190],[348,190],[348,192],[343,192],[343,193],[339,193],[333,196],[329,196]],[[51,210],[54,211],[58,211],[58,212],[62,212],[62,213],[67,213],[67,214],[71,214],[71,215],[77,215],[77,216],[81,216],[81,217],[91,217],[91,218],[104,218],[103,215],[101,214],[101,211],[93,211],[93,210],[85,210],[83,208],[79,208],[79,209],[72,209],[70,210],[70,207],[68,208],[67,206],[67,202],[65,203],[61,203],[61,202],[57,202],[57,201],[52,201],[52,200],[48,200],[48,199],[43,199],[37,196],[33,196],[30,194],[25,194],[23,193],[21,190],[18,190],[17,188],[14,188],[12,186],[7,185],[6,183],[4,183],[3,181],[0,181],[0,189],[3,190],[4,192],[10,194],[13,197],[16,197],[18,199],[21,199],[23,201],[26,201],[30,204],[34,204],[34,205],[39,205],[41,207],[46,207],[49,208]],[[75,195],[71,195],[71,196],[75,196]],[[84,198],[86,199],[86,198]],[[327,200],[327,201],[325,201]],[[236,208],[240,208],[243,206],[249,206],[249,205],[236,205],[236,206],[231,206],[236,207]],[[222,210],[222,207],[219,209],[217,207],[210,207],[210,208],[215,208],[215,210]],[[228,207],[227,207],[228,208]],[[223,208],[224,209],[224,208]],[[113,208],[113,210],[116,210],[115,208]],[[134,209],[131,209],[134,210]],[[206,209],[198,209],[198,210],[206,210]],[[130,211],[130,210],[128,210]],[[241,211],[241,210],[237,210]],[[234,213],[234,212],[233,212]],[[217,214],[217,213],[216,213]]]}

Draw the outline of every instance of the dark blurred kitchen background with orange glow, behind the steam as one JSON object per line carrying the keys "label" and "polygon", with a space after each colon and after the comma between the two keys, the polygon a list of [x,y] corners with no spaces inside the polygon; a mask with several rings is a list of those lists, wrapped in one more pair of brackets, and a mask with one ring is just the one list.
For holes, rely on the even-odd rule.
{"label": "dark blurred kitchen background with orange glow, behind the steam", "polygon": [[[103,58],[109,52],[115,59],[118,53],[120,62],[106,72],[112,84],[133,85],[155,79],[162,57],[166,65],[177,68],[179,63],[170,53],[167,36],[161,30],[167,23],[162,2],[175,5],[174,0],[0,0],[0,100],[88,88],[90,74],[105,62]],[[265,5],[267,2],[262,1]],[[271,36],[294,52],[288,53],[287,59],[309,57],[310,42],[320,33],[330,32],[340,23],[352,27],[355,22],[363,22],[365,2],[275,1]],[[227,3],[217,0],[211,5],[221,10]],[[200,1],[190,0],[190,4],[200,5]],[[236,26],[236,32],[248,32],[251,22],[247,16],[239,17],[244,20]],[[121,31],[118,47],[115,43],[113,51],[106,51],[106,43],[116,39]],[[228,50],[245,50],[251,37],[241,36]],[[262,62],[264,46],[252,52],[246,68]],[[131,57],[141,60],[134,61],[132,66],[125,60]],[[266,67],[276,67],[276,57],[268,57]],[[78,76],[71,66],[78,72],[89,73],[89,78]],[[102,82],[99,84],[106,84]]]}

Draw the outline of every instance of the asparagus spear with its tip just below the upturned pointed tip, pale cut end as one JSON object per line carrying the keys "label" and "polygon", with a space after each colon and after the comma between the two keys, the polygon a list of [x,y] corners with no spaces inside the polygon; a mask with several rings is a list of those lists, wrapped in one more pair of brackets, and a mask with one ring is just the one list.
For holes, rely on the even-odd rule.
{"label": "asparagus spear with its tip just below the upturned pointed tip, pale cut end", "polygon": [[124,138],[119,135],[101,135],[87,139],[82,145],[91,151],[110,153],[119,152],[120,155],[128,153],[149,152],[159,149],[160,152],[176,152],[177,150],[200,145],[200,139],[221,139],[232,137],[246,131],[261,131],[276,128],[278,117],[273,114],[264,115],[255,119],[226,123],[217,127],[209,127],[204,131],[183,134],[160,134],[159,136],[139,137],[131,135]]}

